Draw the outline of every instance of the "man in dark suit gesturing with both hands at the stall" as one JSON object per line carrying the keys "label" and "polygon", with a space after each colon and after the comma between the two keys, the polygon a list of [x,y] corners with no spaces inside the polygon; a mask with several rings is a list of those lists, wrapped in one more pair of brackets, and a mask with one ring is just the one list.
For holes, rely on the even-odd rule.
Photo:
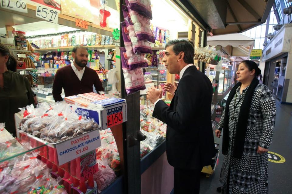
{"label": "man in dark suit gesturing with both hands at the stall", "polygon": [[200,172],[215,156],[212,84],[193,65],[192,42],[172,40],[165,49],[163,62],[169,73],[180,75],[179,84],[165,87],[174,93],[170,106],[160,99],[162,91],[156,88],[149,88],[147,99],[155,104],[153,116],[167,124],[166,154],[174,167],[174,193],[199,193]]}

